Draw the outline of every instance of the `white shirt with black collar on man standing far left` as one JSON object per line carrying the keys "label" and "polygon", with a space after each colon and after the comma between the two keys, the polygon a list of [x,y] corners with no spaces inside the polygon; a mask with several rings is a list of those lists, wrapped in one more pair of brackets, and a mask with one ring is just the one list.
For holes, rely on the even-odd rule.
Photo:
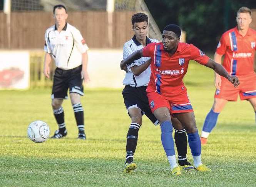
{"label": "white shirt with black collar on man standing far left", "polygon": [[77,28],[66,23],[62,31],[55,25],[45,32],[44,51],[52,55],[60,69],[73,69],[82,64],[82,53],[89,48]]}

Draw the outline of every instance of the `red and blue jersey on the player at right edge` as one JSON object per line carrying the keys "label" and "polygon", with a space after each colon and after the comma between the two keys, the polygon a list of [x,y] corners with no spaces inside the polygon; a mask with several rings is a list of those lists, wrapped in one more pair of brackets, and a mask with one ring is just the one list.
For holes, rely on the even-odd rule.
{"label": "red and blue jersey on the player at right edge", "polygon": [[246,35],[242,36],[235,27],[221,36],[216,53],[225,55],[223,67],[230,75],[248,75],[254,74],[255,50],[256,31],[249,28]]}

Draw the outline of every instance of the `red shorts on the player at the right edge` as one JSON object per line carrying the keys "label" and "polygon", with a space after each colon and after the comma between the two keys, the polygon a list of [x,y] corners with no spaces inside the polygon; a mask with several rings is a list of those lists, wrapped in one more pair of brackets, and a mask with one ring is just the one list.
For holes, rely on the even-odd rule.
{"label": "red shorts on the player at the right edge", "polygon": [[256,75],[238,76],[240,84],[234,87],[228,79],[221,77],[221,89],[216,89],[214,98],[222,98],[228,101],[236,101],[238,94],[241,100],[256,97]]}

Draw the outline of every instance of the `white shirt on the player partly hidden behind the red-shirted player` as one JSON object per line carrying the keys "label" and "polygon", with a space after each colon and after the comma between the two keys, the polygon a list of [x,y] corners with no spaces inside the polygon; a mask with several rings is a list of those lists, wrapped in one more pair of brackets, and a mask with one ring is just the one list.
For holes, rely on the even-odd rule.
{"label": "white shirt on the player partly hidden behind the red-shirted player", "polygon": [[[154,42],[159,42],[159,41],[156,39],[146,38],[146,45]],[[137,51],[142,48],[144,47],[142,46],[141,43],[139,43],[139,41],[137,41],[136,36],[134,35],[131,40],[127,41],[124,44],[123,59],[127,58],[134,51]],[[135,65],[140,66],[144,64],[148,59],[149,57],[141,57],[140,59],[127,65],[128,72],[126,72],[123,80],[124,85],[129,85],[132,87],[147,86],[147,84],[149,83],[150,75],[151,75],[150,66],[147,67],[147,69],[144,72],[142,72],[139,76],[136,76],[132,73],[131,67]]]}

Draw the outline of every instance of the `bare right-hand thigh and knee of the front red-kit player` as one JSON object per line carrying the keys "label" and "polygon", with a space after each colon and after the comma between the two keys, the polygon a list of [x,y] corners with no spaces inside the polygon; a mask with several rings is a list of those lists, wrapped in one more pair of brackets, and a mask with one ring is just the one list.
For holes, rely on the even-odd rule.
{"label": "bare right-hand thigh and knee of the front red-kit player", "polygon": [[175,113],[174,116],[181,122],[187,133],[195,133],[197,131],[194,112]]}

